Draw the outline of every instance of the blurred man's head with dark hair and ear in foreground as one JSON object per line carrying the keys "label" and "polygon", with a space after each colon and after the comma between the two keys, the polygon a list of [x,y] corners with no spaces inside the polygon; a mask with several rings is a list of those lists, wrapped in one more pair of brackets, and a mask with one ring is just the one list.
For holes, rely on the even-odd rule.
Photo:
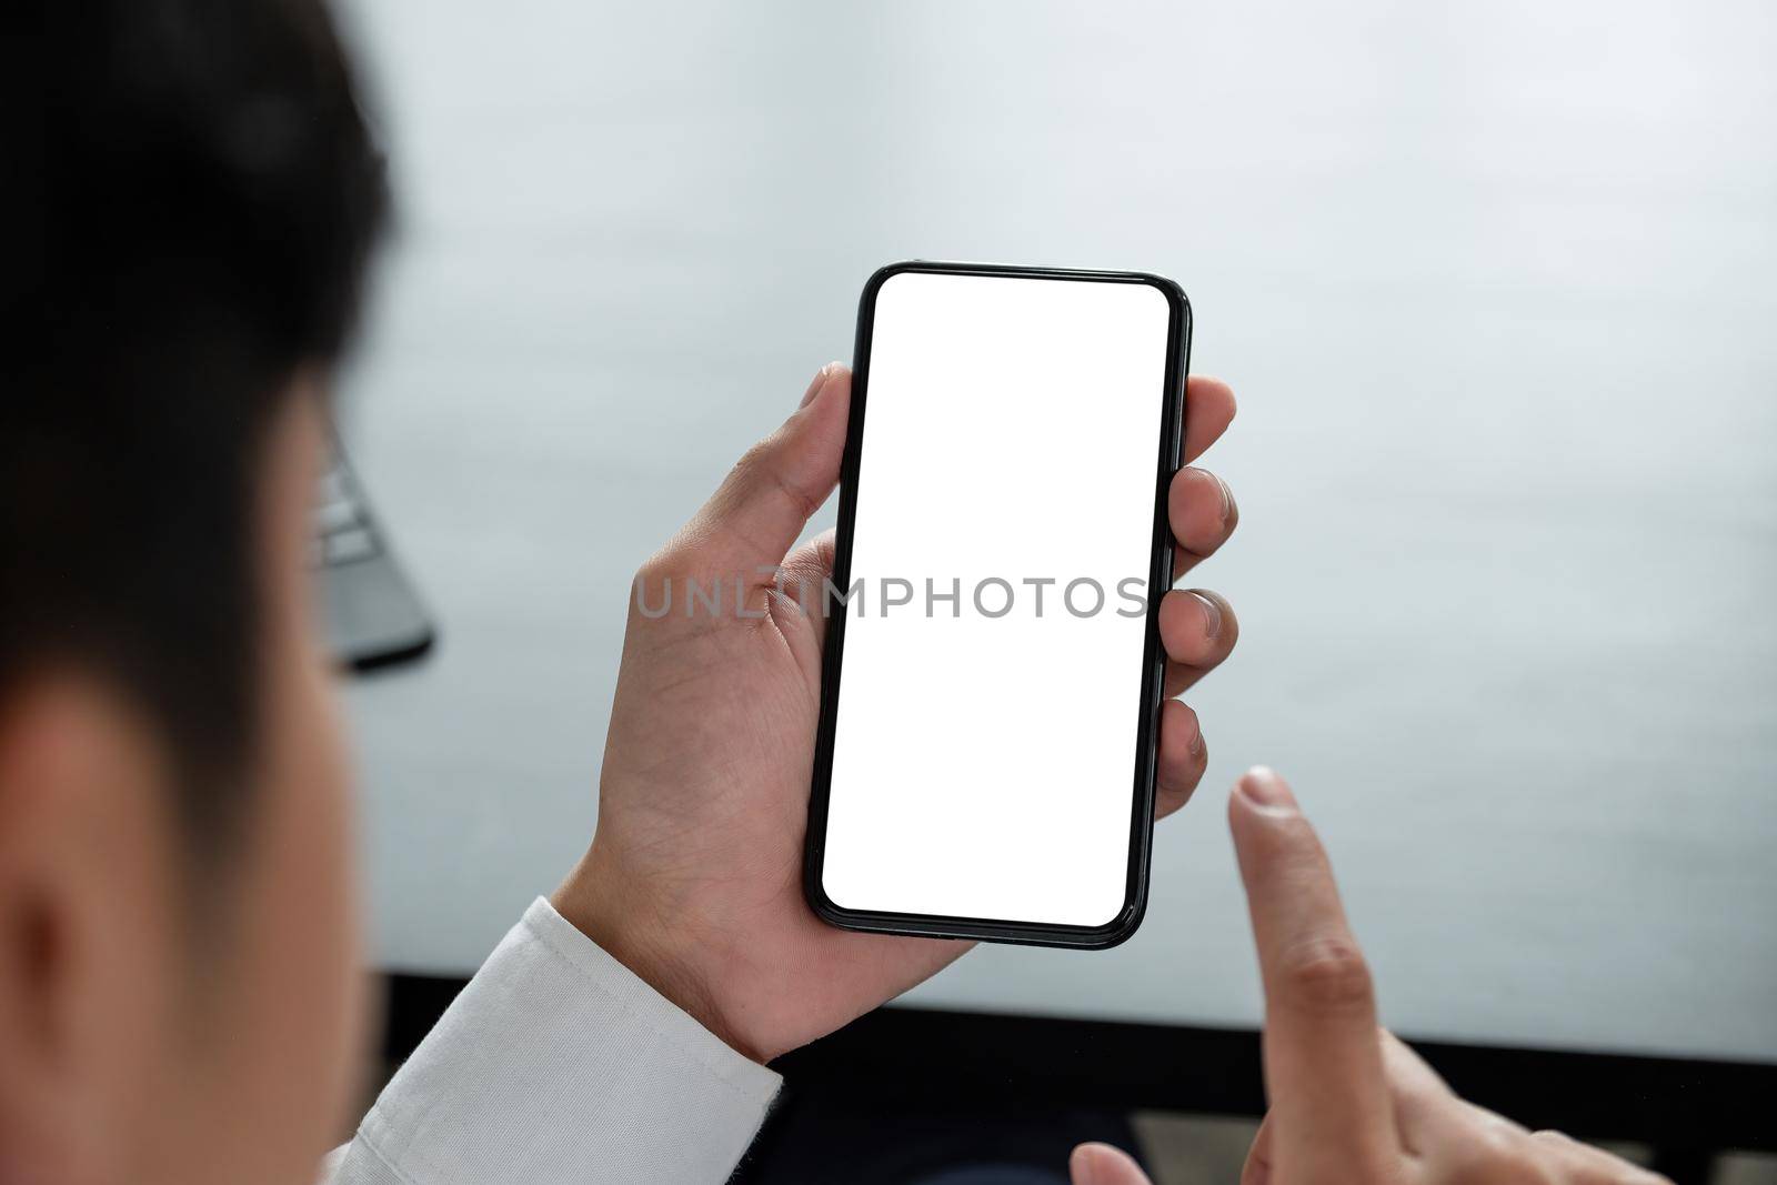
{"label": "blurred man's head with dark hair and ear in foreground", "polygon": [[16,16],[0,1181],[302,1180],[357,1011],[307,510],[382,171],[320,0]]}

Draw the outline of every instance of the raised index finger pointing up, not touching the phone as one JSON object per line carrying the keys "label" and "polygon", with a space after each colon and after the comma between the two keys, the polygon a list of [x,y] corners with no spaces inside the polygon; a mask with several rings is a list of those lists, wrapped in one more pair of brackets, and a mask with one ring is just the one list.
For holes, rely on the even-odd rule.
{"label": "raised index finger pointing up, not touching the phone", "polygon": [[[1377,1169],[1397,1155],[1375,993],[1320,839],[1290,787],[1251,769],[1228,801],[1265,982],[1274,1160]],[[1304,1164],[1303,1158],[1308,1162]],[[1345,1176],[1338,1173],[1335,1176]],[[1310,1173],[1311,1174],[1311,1173]]]}

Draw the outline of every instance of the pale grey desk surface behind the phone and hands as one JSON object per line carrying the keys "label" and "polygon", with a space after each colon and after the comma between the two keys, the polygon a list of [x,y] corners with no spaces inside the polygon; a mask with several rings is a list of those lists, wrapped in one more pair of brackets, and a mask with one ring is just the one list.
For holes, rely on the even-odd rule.
{"label": "pale grey desk surface behind the phone and hands", "polygon": [[1253,1023],[1265,760],[1391,1025],[1777,1059],[1768,5],[348,9],[402,226],[347,435],[442,625],[348,689],[379,963],[579,855],[634,565],[876,265],[1121,265],[1242,402],[1208,778],[1130,943],[912,998]]}

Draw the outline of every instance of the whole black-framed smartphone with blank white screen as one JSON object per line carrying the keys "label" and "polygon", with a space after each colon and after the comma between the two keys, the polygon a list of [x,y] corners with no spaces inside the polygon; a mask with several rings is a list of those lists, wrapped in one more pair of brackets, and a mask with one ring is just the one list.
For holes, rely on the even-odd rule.
{"label": "whole black-framed smartphone with blank white screen", "polygon": [[1141,924],[1189,354],[1185,293],[1143,272],[864,286],[803,876],[826,922]]}

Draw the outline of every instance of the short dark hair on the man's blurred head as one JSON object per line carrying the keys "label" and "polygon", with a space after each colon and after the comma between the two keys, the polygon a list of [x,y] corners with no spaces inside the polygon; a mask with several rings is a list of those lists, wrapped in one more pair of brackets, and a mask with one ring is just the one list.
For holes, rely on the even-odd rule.
{"label": "short dark hair on the man's blurred head", "polygon": [[21,4],[0,695],[55,661],[114,679],[213,842],[256,743],[267,428],[347,345],[382,165],[320,0]]}

